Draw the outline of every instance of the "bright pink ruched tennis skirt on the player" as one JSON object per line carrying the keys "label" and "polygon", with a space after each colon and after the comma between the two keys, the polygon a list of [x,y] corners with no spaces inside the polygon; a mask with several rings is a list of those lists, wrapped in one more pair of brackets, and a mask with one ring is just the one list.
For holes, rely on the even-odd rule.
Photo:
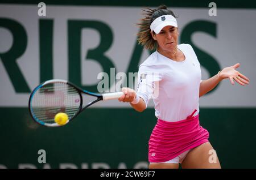
{"label": "bright pink ruched tennis skirt on the player", "polygon": [[158,119],[148,141],[148,161],[165,162],[172,160],[188,149],[209,142],[209,132],[199,123],[196,110],[186,119],[168,122]]}

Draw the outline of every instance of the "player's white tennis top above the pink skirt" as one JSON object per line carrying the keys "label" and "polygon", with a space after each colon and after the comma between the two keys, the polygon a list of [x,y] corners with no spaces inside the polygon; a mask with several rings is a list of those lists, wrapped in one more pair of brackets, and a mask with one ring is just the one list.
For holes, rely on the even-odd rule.
{"label": "player's white tennis top above the pink skirt", "polygon": [[200,63],[189,44],[180,44],[178,49],[185,60],[174,61],[157,51],[140,66],[137,95],[148,104],[153,98],[156,118],[176,122],[199,113]]}

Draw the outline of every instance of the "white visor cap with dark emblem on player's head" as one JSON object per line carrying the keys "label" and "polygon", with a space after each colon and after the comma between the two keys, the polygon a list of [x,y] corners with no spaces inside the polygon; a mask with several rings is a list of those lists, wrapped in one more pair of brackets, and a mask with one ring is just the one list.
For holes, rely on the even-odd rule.
{"label": "white visor cap with dark emblem on player's head", "polygon": [[156,18],[151,24],[151,31],[155,31],[158,34],[167,25],[172,25],[177,28],[177,20],[172,15],[163,15]]}

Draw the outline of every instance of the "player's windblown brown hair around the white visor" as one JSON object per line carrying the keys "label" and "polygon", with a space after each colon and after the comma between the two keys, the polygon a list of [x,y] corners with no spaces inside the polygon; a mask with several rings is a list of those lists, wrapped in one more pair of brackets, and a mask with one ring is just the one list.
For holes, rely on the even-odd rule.
{"label": "player's windblown brown hair around the white visor", "polygon": [[154,38],[152,38],[151,36],[150,24],[156,18],[163,15],[172,15],[175,18],[177,18],[177,16],[175,16],[174,12],[172,12],[171,10],[168,10],[166,5],[161,5],[154,10],[152,10],[151,8],[145,7],[144,9],[142,9],[142,11],[145,17],[141,19],[140,23],[137,23],[137,25],[140,28],[140,31],[137,33],[137,36],[138,36],[137,41],[139,44],[143,45],[146,49],[155,50],[158,44],[154,40]]}

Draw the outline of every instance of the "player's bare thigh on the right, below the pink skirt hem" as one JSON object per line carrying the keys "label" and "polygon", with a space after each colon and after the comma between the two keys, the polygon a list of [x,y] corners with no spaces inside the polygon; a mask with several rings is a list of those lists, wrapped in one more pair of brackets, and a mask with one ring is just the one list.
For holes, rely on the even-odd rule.
{"label": "player's bare thigh on the right, below the pink skirt hem", "polygon": [[182,168],[221,168],[217,153],[207,142],[191,149],[184,158]]}

